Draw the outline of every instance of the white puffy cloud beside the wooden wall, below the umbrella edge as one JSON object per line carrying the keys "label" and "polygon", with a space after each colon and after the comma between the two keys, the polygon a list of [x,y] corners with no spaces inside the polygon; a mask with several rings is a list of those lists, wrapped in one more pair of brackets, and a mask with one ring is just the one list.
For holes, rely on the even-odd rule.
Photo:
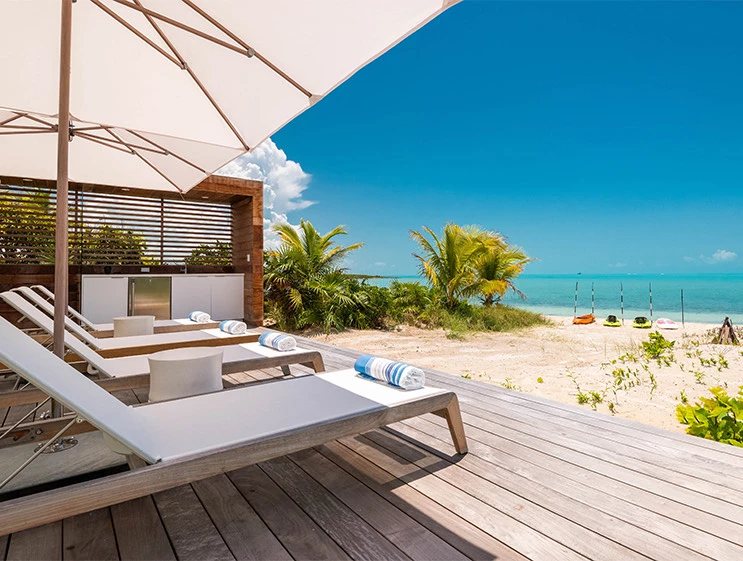
{"label": "white puffy cloud beside the wooden wall, below the umbrella edge", "polygon": [[289,160],[270,138],[217,173],[263,181],[263,243],[267,249],[278,244],[271,226],[289,222],[288,213],[314,204],[302,198],[312,176],[297,162]]}

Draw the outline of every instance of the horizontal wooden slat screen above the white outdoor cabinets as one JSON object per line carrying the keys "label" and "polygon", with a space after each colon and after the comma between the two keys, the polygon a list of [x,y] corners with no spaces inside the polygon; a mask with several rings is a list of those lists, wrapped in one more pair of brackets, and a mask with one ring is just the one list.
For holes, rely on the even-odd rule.
{"label": "horizontal wooden slat screen above the white outdoor cabinets", "polygon": [[[70,263],[231,265],[229,204],[70,191]],[[0,263],[54,262],[54,190],[0,185]]]}

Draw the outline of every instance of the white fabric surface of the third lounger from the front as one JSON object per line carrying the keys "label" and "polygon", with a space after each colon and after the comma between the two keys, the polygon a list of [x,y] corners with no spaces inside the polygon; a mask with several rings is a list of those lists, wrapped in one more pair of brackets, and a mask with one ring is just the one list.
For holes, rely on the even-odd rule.
{"label": "white fabric surface of the third lounger from the front", "polygon": [[[13,306],[18,312],[26,316],[50,335],[54,332],[54,322],[45,312],[36,307],[17,293],[19,289],[13,289],[3,292],[0,296],[8,304]],[[46,306],[50,306],[47,302]],[[200,329],[197,331],[178,331],[175,333],[158,333],[155,335],[137,335],[134,337],[118,337],[111,339],[98,339],[77,325],[70,318],[65,317],[65,328],[67,331],[74,333],[94,349],[108,350],[121,349],[126,347],[140,347],[145,345],[161,345],[168,343],[182,343],[186,341],[203,341],[214,337],[229,339],[231,337],[240,337],[225,333],[219,329]]]}

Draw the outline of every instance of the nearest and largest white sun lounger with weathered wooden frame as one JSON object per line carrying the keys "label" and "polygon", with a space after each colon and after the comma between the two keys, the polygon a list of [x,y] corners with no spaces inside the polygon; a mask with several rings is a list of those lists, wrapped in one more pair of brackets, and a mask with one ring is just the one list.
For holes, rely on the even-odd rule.
{"label": "nearest and largest white sun lounger with weathered wooden frame", "polygon": [[[437,413],[467,451],[456,394],[402,391],[353,370],[280,380],[140,407],[126,406],[0,318],[0,361],[132,452],[132,471],[12,499],[2,533],[106,507],[256,462]],[[57,422],[57,421],[55,421]],[[139,461],[137,461],[137,459]],[[150,465],[145,465],[150,464]]]}

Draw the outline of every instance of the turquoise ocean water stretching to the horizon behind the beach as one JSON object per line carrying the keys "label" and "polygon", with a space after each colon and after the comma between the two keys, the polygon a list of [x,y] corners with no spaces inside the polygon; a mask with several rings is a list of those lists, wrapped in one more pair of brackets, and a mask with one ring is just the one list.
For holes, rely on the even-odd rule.
{"label": "turquoise ocean water stretching to the horizon behind the beach", "polygon": [[[410,275],[400,281],[420,281]],[[388,285],[391,279],[375,279]],[[684,291],[684,319],[687,322],[722,323],[729,316],[735,325],[743,322],[743,274],[725,275],[528,275],[516,282],[526,300],[509,295],[505,302],[546,315],[572,316],[575,283],[578,283],[578,315],[591,312],[591,288],[595,314],[602,318],[621,315],[620,288],[624,291],[624,317],[650,317],[650,289],[653,319],[667,317],[681,322],[681,291]]]}

